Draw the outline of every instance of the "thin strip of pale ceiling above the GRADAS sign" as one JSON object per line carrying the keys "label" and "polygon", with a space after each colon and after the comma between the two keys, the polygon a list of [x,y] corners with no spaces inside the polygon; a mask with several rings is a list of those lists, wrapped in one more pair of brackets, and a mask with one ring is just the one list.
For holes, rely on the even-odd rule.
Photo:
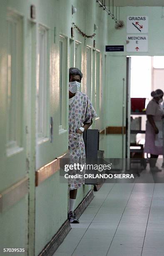
{"label": "thin strip of pale ceiling above the GRADAS sign", "polygon": [[[100,0],[100,2],[104,1]],[[105,5],[109,6],[109,0],[105,1]],[[164,6],[164,0],[114,0],[114,6]]]}

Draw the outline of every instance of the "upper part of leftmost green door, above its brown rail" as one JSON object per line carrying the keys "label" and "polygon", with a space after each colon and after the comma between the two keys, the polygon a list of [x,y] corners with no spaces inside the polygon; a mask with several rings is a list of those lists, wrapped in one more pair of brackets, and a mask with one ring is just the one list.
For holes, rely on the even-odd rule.
{"label": "upper part of leftmost green door, above its brown rail", "polygon": [[[23,84],[23,16],[5,8],[4,54],[1,57],[2,156],[5,165],[0,179],[1,190],[24,178],[26,171],[25,106]],[[19,168],[18,167],[19,163]]]}

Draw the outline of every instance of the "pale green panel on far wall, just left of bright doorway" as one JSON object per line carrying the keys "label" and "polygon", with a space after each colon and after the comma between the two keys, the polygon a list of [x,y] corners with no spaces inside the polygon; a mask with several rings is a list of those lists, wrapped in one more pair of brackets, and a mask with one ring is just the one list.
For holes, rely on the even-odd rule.
{"label": "pale green panel on far wall, just left of bright doorway", "polygon": [[[109,83],[107,84],[107,126],[126,125],[126,65],[125,56],[109,56]],[[124,115],[123,115],[124,114]],[[107,157],[125,157],[125,138],[123,134],[107,136]]]}

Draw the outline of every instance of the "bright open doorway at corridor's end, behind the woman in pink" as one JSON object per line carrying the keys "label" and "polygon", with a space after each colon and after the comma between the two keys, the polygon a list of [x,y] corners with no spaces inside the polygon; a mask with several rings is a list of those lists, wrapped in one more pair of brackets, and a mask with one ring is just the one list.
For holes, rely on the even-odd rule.
{"label": "bright open doorway at corridor's end, behind the woman in pink", "polygon": [[[146,109],[152,99],[151,92],[157,89],[164,91],[164,56],[129,56],[127,63],[128,158],[139,151],[143,154],[147,120],[144,109],[132,111],[131,98],[145,98]],[[143,156],[147,158],[147,154]]]}

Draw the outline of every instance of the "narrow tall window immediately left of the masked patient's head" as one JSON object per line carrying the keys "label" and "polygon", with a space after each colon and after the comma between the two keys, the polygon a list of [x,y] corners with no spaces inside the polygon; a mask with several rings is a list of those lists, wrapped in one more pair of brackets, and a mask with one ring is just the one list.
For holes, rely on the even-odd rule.
{"label": "narrow tall window immediately left of the masked patient's head", "polygon": [[60,35],[60,125],[59,133],[65,132],[67,109],[67,39]]}

